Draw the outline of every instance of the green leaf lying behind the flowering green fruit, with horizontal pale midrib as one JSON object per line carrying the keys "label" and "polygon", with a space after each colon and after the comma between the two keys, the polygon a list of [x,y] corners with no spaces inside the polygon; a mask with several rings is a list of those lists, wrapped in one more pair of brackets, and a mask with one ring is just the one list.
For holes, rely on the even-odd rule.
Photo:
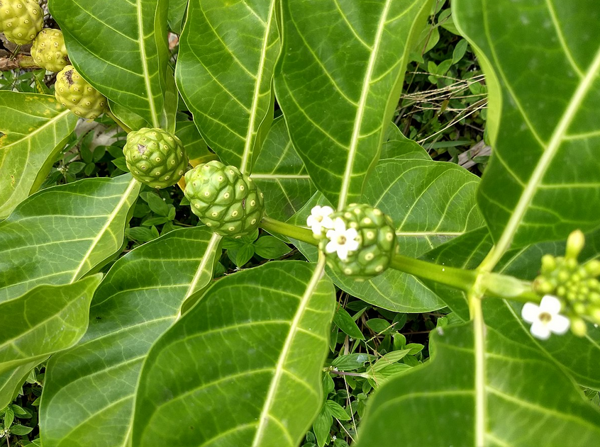
{"label": "green leaf lying behind the flowering green fruit, with horizontal pale midrib", "polygon": [[[455,164],[387,159],[375,168],[363,201],[377,206],[396,223],[401,254],[418,257],[484,224],[475,200],[478,183],[477,176]],[[310,200],[292,221],[305,225],[316,204],[326,204],[323,196]],[[309,244],[298,243],[298,247],[316,259],[316,249]],[[444,307],[432,285],[391,268],[365,282],[335,275],[330,269],[328,274],[338,287],[384,309],[428,312]]]}

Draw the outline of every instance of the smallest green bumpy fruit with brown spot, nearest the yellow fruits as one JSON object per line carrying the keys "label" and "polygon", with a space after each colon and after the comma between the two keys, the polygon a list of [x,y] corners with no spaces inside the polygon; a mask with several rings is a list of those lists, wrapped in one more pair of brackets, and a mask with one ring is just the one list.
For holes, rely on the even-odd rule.
{"label": "smallest green bumpy fruit with brown spot, nearest the yellow fruits", "polygon": [[173,186],[187,168],[181,140],[162,129],[129,132],[123,154],[131,174],[152,188]]}

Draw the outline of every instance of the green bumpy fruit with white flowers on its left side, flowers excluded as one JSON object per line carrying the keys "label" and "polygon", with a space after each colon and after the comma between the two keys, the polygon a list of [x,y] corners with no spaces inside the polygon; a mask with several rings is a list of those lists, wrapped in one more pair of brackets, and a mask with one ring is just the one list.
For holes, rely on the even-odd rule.
{"label": "green bumpy fruit with white flowers on its left side, flowers excluded", "polygon": [[319,248],[325,253],[327,264],[333,271],[364,281],[388,268],[396,249],[396,233],[387,215],[369,205],[353,203],[329,217],[333,222],[343,220],[347,229],[355,229],[358,242],[358,248],[348,252],[348,258],[344,260],[335,251],[327,252],[329,237],[321,239]]}

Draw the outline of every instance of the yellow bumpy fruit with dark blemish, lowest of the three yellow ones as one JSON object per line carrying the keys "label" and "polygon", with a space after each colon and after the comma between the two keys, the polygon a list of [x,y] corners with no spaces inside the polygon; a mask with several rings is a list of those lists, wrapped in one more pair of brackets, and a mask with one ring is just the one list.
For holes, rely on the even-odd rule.
{"label": "yellow bumpy fruit with dark blemish, lowest of the three yellow ones", "polygon": [[57,101],[81,118],[94,120],[106,111],[106,97],[83,79],[72,65],[67,65],[56,75],[55,89]]}

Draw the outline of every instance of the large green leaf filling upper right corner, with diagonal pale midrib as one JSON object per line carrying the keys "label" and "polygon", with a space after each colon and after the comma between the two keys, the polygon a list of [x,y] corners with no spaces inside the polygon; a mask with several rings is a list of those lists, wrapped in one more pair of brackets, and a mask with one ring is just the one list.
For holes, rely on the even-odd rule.
{"label": "large green leaf filling upper right corner, with diagonal pale midrib", "polygon": [[501,252],[600,223],[596,0],[457,0],[484,67],[494,152],[479,205]]}

